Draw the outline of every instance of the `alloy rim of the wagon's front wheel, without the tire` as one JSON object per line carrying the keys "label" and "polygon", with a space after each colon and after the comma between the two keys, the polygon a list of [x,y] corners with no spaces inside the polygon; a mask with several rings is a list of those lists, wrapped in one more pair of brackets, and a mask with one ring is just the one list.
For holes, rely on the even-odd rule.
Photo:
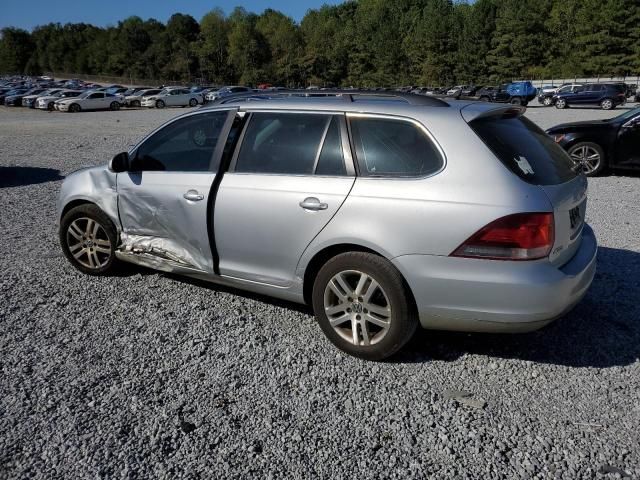
{"label": "alloy rim of the wagon's front wheel, without the tire", "polygon": [[73,258],[86,268],[104,267],[111,258],[111,241],[107,232],[92,218],[77,218],[69,224],[67,247]]}

